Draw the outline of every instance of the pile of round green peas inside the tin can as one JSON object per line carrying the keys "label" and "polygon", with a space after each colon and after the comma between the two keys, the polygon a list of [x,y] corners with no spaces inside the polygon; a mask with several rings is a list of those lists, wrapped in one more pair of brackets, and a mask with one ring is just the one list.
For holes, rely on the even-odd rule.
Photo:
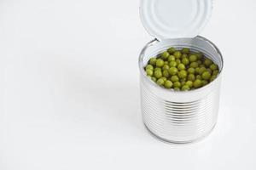
{"label": "pile of round green peas inside the tin can", "polygon": [[189,48],[168,48],[149,59],[145,66],[147,76],[162,88],[187,91],[212,82],[219,73],[218,65],[201,52]]}

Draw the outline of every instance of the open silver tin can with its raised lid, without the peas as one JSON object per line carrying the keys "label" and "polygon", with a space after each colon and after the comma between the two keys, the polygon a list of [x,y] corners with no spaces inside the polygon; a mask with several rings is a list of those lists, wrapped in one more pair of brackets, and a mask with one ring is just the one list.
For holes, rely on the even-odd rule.
{"label": "open silver tin can with its raised lid, without the peas", "polygon": [[[169,14],[169,9],[184,7],[188,2],[191,15]],[[177,12],[177,9],[174,10]],[[156,37],[148,42],[139,57],[141,107],[145,126],[158,139],[176,144],[191,143],[207,136],[216,125],[223,57],[212,42],[197,36],[211,10],[212,0],[141,1],[143,25]],[[170,16],[173,17],[170,19]],[[191,20],[195,24],[188,28]],[[144,67],[151,57],[170,47],[190,48],[191,51],[205,54],[218,65],[218,77],[207,86],[191,91],[177,92],[161,88],[147,77]]]}

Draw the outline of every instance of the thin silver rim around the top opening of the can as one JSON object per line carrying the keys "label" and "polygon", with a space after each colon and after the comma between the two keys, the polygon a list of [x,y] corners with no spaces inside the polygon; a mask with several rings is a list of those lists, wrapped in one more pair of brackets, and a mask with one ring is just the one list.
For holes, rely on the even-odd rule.
{"label": "thin silver rim around the top opening of the can", "polygon": [[[144,67],[143,67],[143,56],[144,56],[144,53],[145,53],[145,50],[147,48],[149,48],[150,46],[154,45],[154,43],[156,42],[160,42],[158,39],[154,39],[150,42],[148,42],[143,50],[141,51],[140,55],[139,55],[139,59],[138,59],[138,65],[139,65],[139,69],[140,69],[140,72],[141,72],[141,75],[143,77],[145,77],[146,81],[148,83],[150,83],[151,85],[154,86],[154,88],[158,88],[160,90],[163,90],[163,91],[166,91],[168,93],[174,93],[174,94],[186,94],[186,93],[192,93],[192,92],[198,92],[198,91],[201,91],[203,89],[206,89],[206,88],[210,88],[212,86],[212,83],[216,82],[217,79],[220,78],[220,75],[222,74],[222,71],[223,71],[223,67],[224,67],[224,59],[223,59],[223,55],[221,54],[220,50],[218,49],[218,47],[210,40],[208,40],[206,37],[201,37],[201,36],[197,36],[197,37],[193,37],[193,38],[200,38],[201,40],[203,41],[206,41],[206,42],[209,42],[210,45],[212,45],[212,48],[214,48],[216,50],[216,52],[219,54],[220,56],[220,59],[221,59],[221,67],[219,69],[219,73],[218,73],[218,77],[216,77],[216,79],[210,83],[208,83],[206,86],[202,87],[202,88],[196,88],[196,89],[193,89],[193,90],[189,90],[189,91],[175,91],[175,90],[170,90],[170,89],[166,89],[166,88],[161,88],[159,85],[157,85],[155,82],[153,82],[152,80],[149,80],[149,78],[147,77],[146,75],[146,71],[144,71]],[[193,39],[193,38],[190,38],[190,39]],[[177,39],[183,39],[183,38],[177,38]]]}

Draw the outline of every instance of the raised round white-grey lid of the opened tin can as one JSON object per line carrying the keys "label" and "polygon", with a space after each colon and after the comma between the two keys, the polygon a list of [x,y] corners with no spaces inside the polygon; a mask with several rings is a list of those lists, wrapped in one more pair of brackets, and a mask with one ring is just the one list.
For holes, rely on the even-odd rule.
{"label": "raised round white-grey lid of the opened tin can", "polygon": [[212,14],[212,0],[141,0],[140,16],[158,39],[196,37]]}

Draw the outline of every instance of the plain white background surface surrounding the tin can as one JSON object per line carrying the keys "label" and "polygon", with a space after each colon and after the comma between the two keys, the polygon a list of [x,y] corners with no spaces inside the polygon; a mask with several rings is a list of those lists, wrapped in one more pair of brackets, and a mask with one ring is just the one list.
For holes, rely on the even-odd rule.
{"label": "plain white background surface surrounding the tin can", "polygon": [[218,126],[165,144],[143,127],[139,2],[0,1],[0,169],[256,169],[256,1],[214,0]]}

